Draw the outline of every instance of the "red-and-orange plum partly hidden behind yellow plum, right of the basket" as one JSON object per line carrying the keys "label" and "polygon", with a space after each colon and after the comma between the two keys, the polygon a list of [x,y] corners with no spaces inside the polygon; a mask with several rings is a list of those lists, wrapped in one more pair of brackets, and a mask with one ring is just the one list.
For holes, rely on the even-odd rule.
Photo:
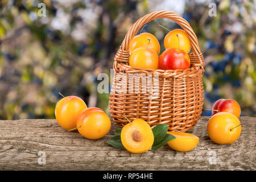
{"label": "red-and-orange plum partly hidden behind yellow plum, right of the basket", "polygon": [[217,100],[212,107],[212,115],[220,112],[227,112],[236,115],[237,118],[240,117],[241,108],[237,101],[233,99],[220,99]]}

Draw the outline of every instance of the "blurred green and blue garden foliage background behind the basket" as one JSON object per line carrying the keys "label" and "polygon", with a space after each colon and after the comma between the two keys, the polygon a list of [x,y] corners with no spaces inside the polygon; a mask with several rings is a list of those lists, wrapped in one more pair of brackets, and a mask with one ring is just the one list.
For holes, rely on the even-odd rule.
{"label": "blurred green and blue garden foliage background behind the basket", "polygon": [[[216,16],[209,16],[209,3],[216,3]],[[199,39],[204,107],[233,98],[243,116],[256,117],[255,8],[245,0],[1,0],[0,119],[55,118],[59,92],[108,111],[109,94],[97,92],[97,76],[110,74],[129,27],[156,10],[183,16]],[[179,28],[168,19],[148,23],[143,31],[162,45],[167,31],[156,23]]]}

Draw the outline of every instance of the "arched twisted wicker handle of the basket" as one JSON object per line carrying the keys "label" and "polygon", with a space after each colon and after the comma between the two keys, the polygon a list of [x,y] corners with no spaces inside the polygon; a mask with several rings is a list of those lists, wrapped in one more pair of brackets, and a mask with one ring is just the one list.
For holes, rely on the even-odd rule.
{"label": "arched twisted wicker handle of the basket", "polygon": [[151,20],[158,19],[158,18],[168,18],[171,20],[174,20],[183,30],[188,34],[189,40],[191,42],[191,47],[194,55],[200,55],[201,51],[199,48],[198,40],[196,37],[195,32],[184,18],[182,18],[180,15],[172,12],[172,11],[155,11],[153,13],[147,14],[143,16],[142,18],[138,19],[137,22],[131,26],[129,31],[127,32],[125,39],[123,39],[121,49],[123,51],[128,51],[129,44],[131,42],[131,39],[134,38],[135,34],[138,32],[138,30],[146,23],[150,22]]}

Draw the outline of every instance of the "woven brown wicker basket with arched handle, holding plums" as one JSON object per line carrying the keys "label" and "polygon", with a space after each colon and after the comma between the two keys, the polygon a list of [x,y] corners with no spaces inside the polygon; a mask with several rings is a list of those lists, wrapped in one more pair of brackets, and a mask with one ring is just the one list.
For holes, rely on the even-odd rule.
{"label": "woven brown wicker basket with arched handle, holding plums", "polygon": [[[129,43],[131,39],[145,23],[157,18],[174,20],[187,32],[192,46],[192,51],[189,54],[191,68],[163,71],[129,66]],[[151,127],[165,123],[169,125],[168,130],[170,131],[192,129],[200,118],[203,109],[203,65],[204,58],[197,37],[189,23],[181,16],[171,11],[155,11],[138,19],[127,32],[114,57],[115,73],[109,101],[109,111],[113,121],[123,127],[128,123],[122,116],[125,115],[131,121],[136,118],[144,119]],[[135,73],[138,75],[136,76]],[[123,79],[120,75],[127,77]],[[140,80],[139,85],[134,86],[135,84],[131,85],[127,81],[131,75],[135,77],[133,78],[135,81]],[[139,75],[146,76],[148,80],[151,79],[152,84],[143,84],[143,77]],[[158,81],[154,81],[154,78],[157,78]],[[156,87],[154,87],[155,85]],[[132,90],[129,90],[129,86]],[[156,95],[154,95],[154,88],[158,89]],[[145,92],[145,89],[150,90],[150,92]]]}

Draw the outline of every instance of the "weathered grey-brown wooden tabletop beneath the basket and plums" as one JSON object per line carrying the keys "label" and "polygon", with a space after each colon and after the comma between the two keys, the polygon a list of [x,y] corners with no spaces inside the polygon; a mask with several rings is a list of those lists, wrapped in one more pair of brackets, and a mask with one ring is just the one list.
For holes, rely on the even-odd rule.
{"label": "weathered grey-brown wooden tabletop beneath the basket and plums", "polygon": [[0,121],[1,170],[255,170],[256,118],[241,117],[242,134],[232,143],[213,143],[207,135],[209,117],[202,117],[189,131],[200,138],[189,152],[168,145],[143,154],[131,154],[78,131],[62,129],[55,119]]}

